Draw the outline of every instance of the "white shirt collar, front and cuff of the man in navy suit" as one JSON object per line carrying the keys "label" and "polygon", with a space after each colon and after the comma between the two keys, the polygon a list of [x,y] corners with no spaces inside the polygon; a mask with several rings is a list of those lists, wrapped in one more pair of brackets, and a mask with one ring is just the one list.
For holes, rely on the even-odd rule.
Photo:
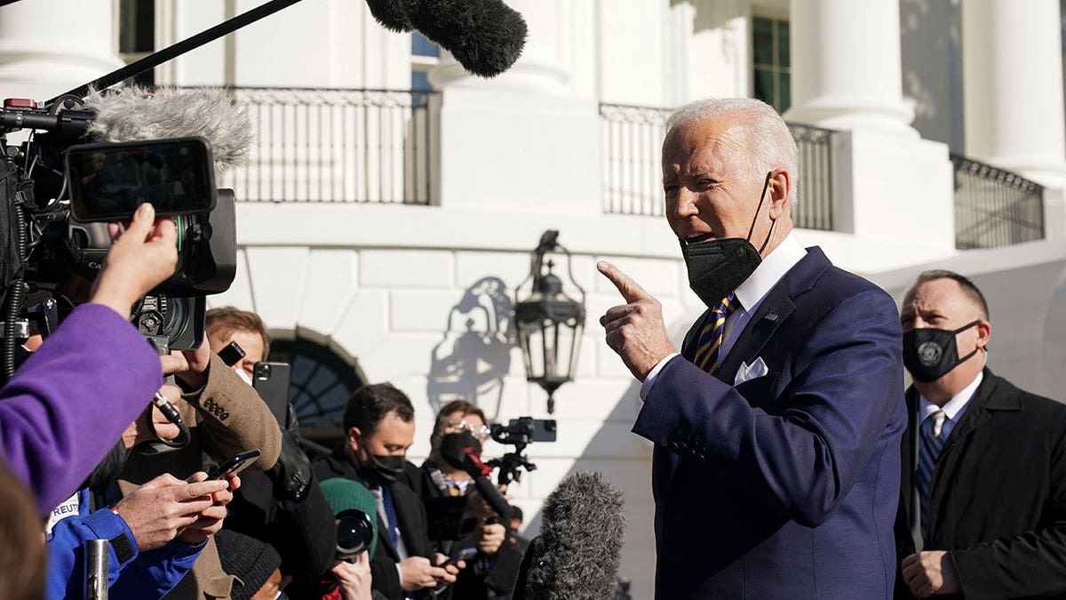
{"label": "white shirt collar, front and cuff of the man in navy suit", "polygon": [[[732,349],[737,343],[737,338],[740,337],[741,332],[744,331],[744,327],[747,326],[747,321],[752,320],[752,315],[759,310],[759,305],[762,304],[770,290],[777,285],[777,282],[781,281],[781,278],[785,277],[785,273],[789,269],[794,267],[806,255],[807,250],[800,243],[795,232],[789,232],[789,235],[785,236],[781,243],[759,263],[755,272],[733,290],[737,299],[740,300],[740,306],[726,318],[725,329],[722,334],[722,349],[718,353],[722,359],[725,359],[729,350]],[[648,376],[644,378],[644,384],[641,385],[642,400],[647,398],[648,393],[651,392],[651,386],[655,385],[656,379],[659,377],[659,372],[676,356],[678,353],[674,352],[659,361],[648,373]]]}

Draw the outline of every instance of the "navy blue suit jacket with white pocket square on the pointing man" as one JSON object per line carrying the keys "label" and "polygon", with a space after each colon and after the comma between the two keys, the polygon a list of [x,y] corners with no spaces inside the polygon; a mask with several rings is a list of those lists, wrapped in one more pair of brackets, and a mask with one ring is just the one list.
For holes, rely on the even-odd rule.
{"label": "navy blue suit jacket with white pocket square on the pointing man", "polygon": [[[699,326],[633,427],[656,442],[656,597],[890,598],[906,428],[895,302],[811,248],[713,376],[690,362]],[[766,375],[733,386],[757,358]]]}

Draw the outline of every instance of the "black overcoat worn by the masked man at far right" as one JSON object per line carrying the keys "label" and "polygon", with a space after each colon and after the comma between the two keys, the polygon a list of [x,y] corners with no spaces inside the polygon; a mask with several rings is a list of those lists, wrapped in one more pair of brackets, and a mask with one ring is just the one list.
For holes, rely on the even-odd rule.
{"label": "black overcoat worn by the masked man at far right", "polygon": [[[911,598],[899,562],[915,552],[910,523],[918,392],[907,391],[895,522],[897,598]],[[928,539],[947,550],[966,598],[1066,596],[1066,406],[985,369],[930,484]]]}

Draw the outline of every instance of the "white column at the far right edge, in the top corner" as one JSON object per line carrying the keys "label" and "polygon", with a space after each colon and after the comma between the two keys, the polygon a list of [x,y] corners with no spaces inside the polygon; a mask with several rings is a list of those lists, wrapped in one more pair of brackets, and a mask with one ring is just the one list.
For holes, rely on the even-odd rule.
{"label": "white column at the far right edge, in the top corner", "polygon": [[963,4],[966,154],[1066,186],[1057,0]]}

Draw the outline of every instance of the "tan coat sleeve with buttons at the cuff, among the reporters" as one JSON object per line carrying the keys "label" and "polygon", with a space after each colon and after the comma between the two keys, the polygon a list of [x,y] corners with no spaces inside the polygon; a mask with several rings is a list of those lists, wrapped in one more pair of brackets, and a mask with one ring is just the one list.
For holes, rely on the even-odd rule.
{"label": "tan coat sleeve with buttons at the cuff, among the reporters", "polygon": [[196,409],[203,448],[222,462],[237,453],[259,448],[252,469],[265,471],[281,453],[281,431],[266,402],[226,363],[211,353],[207,383],[181,396]]}

